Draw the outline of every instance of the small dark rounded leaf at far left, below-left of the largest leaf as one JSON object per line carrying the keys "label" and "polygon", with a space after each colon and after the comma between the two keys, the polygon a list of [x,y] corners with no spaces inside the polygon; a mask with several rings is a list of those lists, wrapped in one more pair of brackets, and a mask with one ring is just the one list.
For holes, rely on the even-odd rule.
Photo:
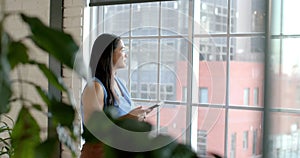
{"label": "small dark rounded leaf at far left, below-left of the largest leaf", "polygon": [[11,69],[14,69],[16,65],[20,63],[27,63],[29,60],[27,54],[28,48],[21,42],[9,43],[9,50],[7,54],[8,61]]}

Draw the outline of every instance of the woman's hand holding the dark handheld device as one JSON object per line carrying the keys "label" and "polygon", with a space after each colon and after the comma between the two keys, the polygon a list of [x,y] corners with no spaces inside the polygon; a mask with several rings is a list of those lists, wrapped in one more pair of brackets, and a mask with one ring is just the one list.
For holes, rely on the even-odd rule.
{"label": "woman's hand holding the dark handheld device", "polygon": [[139,121],[145,121],[147,114],[150,112],[149,110],[151,111],[152,109],[143,109],[142,106],[138,106],[121,118],[131,118]]}

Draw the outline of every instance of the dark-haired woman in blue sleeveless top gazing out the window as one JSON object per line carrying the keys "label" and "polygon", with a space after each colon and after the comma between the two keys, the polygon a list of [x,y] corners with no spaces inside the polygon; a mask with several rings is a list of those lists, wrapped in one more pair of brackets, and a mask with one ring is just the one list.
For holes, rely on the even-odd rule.
{"label": "dark-haired woman in blue sleeveless top gazing out the window", "polygon": [[[92,80],[82,93],[83,122],[89,120],[95,111],[113,107],[119,118],[144,120],[148,110],[141,106],[131,110],[132,102],[126,86],[115,75],[126,66],[127,54],[120,37],[113,34],[101,34],[94,42],[90,60]],[[103,157],[102,143],[84,126],[85,144],[81,158]]]}

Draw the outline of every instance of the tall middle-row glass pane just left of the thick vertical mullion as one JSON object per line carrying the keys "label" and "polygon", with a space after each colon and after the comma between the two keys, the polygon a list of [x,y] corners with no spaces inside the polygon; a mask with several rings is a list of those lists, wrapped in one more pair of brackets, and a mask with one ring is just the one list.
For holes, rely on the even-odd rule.
{"label": "tall middle-row glass pane just left of the thick vertical mullion", "polygon": [[[162,100],[182,101],[187,86],[187,40],[165,38],[160,47],[160,92]],[[186,100],[184,100],[186,101]]]}

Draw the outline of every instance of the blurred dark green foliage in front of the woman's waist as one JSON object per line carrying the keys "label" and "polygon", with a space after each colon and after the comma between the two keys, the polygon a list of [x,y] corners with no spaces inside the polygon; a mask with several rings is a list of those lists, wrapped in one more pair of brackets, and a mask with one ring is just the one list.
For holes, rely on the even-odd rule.
{"label": "blurred dark green foliage in front of the woman's waist", "polygon": [[[85,127],[94,134],[94,139],[104,142],[106,158],[197,158],[189,146],[178,143],[171,136],[150,136],[152,127],[147,122],[113,119],[104,112],[94,112]],[[120,145],[128,150],[119,149]]]}

